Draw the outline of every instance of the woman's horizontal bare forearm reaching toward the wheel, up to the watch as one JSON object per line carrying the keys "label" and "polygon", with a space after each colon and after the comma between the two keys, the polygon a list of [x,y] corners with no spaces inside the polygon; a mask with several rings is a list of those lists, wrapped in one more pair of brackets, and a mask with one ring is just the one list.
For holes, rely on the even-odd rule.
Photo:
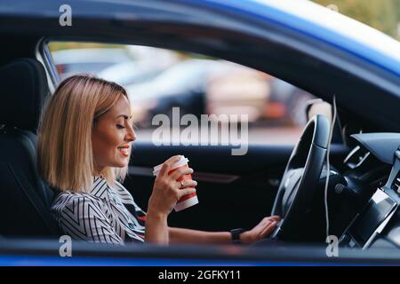
{"label": "woman's horizontal bare forearm reaching toward the wheel, up to the watch", "polygon": [[182,228],[168,228],[170,243],[229,243],[229,232],[204,232]]}

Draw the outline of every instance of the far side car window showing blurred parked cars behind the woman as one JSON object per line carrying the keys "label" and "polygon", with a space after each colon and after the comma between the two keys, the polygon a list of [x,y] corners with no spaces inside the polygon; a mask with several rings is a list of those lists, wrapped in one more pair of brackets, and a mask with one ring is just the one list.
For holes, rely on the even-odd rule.
{"label": "far side car window showing blurred parked cars behind the woman", "polygon": [[[204,133],[209,133],[202,131],[205,117],[207,125],[216,122],[228,133],[233,123],[241,130],[245,123],[240,135],[248,144],[294,145],[308,120],[308,101],[315,99],[274,76],[198,54],[103,43],[51,42],[49,49],[61,80],[89,73],[123,85],[141,141],[204,145]],[[185,134],[195,123],[191,118],[197,119],[198,135]],[[161,126],[169,129],[166,136],[159,133]],[[185,135],[173,135],[176,129]],[[222,145],[222,136],[208,138]]]}

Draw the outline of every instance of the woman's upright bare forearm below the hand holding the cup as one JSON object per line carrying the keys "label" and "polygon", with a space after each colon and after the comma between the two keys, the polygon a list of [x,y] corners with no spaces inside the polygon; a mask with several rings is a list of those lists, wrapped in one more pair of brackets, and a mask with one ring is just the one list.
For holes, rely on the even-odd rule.
{"label": "woman's upright bare forearm below the hand holding the cup", "polygon": [[145,241],[154,244],[169,243],[167,215],[148,212],[146,216]]}

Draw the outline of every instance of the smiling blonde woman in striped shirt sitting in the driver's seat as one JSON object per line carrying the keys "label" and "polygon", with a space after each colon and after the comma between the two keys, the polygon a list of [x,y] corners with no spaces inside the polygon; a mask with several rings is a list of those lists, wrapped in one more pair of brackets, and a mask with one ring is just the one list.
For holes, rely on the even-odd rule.
{"label": "smiling blonde woman in striped shirt sitting in the driver's seat", "polygon": [[[164,162],[143,212],[120,182],[124,180],[136,139],[131,104],[124,88],[89,75],[74,75],[52,95],[39,126],[38,166],[46,182],[60,193],[52,215],[61,230],[76,240],[128,242],[223,243],[229,232],[171,228],[167,217],[196,181],[176,180],[192,169],[168,175],[179,156]],[[118,180],[120,182],[118,182]],[[272,232],[279,217],[266,217],[240,241],[251,243]]]}

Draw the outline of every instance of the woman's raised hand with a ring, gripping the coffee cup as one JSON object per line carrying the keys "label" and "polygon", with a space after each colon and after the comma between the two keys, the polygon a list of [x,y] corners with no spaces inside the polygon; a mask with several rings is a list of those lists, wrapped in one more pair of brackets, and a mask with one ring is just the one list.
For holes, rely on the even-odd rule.
{"label": "woman's raised hand with a ring, gripping the coffee cup", "polygon": [[156,177],[153,193],[151,193],[148,201],[148,213],[166,216],[171,213],[180,197],[196,192],[194,188],[197,185],[196,180],[182,180],[183,186],[180,181],[177,181],[183,175],[192,174],[192,169],[188,167],[180,168],[168,175],[168,172],[172,170],[172,165],[179,160],[180,156],[175,155],[164,162]]}

